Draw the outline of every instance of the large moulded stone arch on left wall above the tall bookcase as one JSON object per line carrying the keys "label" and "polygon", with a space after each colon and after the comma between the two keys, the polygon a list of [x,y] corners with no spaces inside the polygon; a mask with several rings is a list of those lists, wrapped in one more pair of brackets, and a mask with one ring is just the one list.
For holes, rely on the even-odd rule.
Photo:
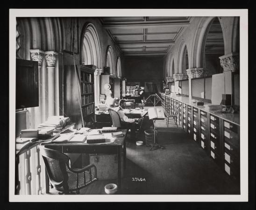
{"label": "large moulded stone arch on left wall above the tall bookcase", "polygon": [[80,60],[85,65],[95,65],[100,69],[101,54],[98,33],[92,23],[85,23],[80,40]]}

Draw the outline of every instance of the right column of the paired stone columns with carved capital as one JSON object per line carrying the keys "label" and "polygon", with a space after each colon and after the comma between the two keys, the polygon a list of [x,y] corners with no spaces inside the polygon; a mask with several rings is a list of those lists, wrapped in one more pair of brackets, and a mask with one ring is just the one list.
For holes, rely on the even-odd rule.
{"label": "right column of the paired stone columns with carved capital", "polygon": [[50,117],[54,115],[54,69],[57,60],[57,53],[54,51],[47,51],[44,55],[48,78],[48,117]]}

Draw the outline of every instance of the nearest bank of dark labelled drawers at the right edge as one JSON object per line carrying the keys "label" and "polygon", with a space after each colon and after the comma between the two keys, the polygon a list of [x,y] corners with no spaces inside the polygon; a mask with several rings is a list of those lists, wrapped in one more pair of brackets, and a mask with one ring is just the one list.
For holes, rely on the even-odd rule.
{"label": "nearest bank of dark labelled drawers at the right edge", "polygon": [[223,120],[224,170],[235,180],[240,178],[240,127]]}

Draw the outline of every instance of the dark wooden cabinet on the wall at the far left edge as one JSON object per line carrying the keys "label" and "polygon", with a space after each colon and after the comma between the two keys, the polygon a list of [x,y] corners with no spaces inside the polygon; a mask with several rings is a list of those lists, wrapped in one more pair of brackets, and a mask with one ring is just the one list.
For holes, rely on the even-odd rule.
{"label": "dark wooden cabinet on the wall at the far left edge", "polygon": [[16,59],[16,109],[39,106],[38,62]]}

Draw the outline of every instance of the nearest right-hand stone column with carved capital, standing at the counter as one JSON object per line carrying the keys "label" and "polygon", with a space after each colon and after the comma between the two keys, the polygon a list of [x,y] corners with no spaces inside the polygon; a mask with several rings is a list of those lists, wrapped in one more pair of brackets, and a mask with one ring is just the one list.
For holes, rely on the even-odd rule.
{"label": "nearest right-hand stone column with carved capital, standing at the counter", "polygon": [[[232,95],[232,74],[240,71],[239,53],[228,53],[224,56],[220,56],[219,58],[220,65],[223,68],[223,73],[225,74],[225,94]],[[232,98],[234,98],[233,95]]]}

